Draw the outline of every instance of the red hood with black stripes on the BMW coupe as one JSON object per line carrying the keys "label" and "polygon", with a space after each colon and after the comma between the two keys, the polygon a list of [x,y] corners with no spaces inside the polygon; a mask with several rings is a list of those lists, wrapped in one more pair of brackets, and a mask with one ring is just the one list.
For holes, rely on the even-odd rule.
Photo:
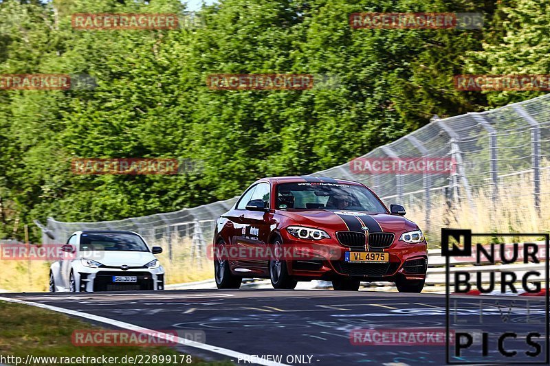
{"label": "red hood with black stripes on the BMW coupe", "polygon": [[[362,227],[369,227],[369,231],[410,231],[418,226],[403,216],[389,214],[369,214],[366,211],[329,211],[326,209],[287,209],[281,211],[292,221],[290,225],[326,228],[334,231],[351,230],[362,231]],[[363,226],[364,224],[364,226]]]}

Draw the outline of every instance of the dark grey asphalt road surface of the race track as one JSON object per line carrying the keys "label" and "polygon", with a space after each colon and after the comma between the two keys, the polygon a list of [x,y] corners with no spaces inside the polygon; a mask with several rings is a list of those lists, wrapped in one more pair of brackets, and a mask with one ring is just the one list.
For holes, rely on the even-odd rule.
{"label": "dark grey asphalt road surface of the race track", "polygon": [[[332,290],[173,290],[157,293],[3,294],[26,301],[79,310],[153,330],[202,330],[204,343],[243,354],[280,355],[288,365],[443,365],[445,345],[422,339],[417,345],[386,341],[355,345],[350,332],[371,329],[445,331],[445,296]],[[456,303],[455,303],[456,301]],[[454,363],[544,361],[547,324],[544,297],[456,296],[450,299],[451,329],[474,332],[472,346]],[[488,356],[481,356],[481,332],[489,333]],[[496,339],[507,339],[514,358],[498,353]],[[540,355],[529,358],[529,332],[541,334]],[[380,334],[380,333],[379,333]],[[369,340],[369,339],[362,339]],[[380,341],[380,339],[379,339]],[[410,339],[408,339],[410,341]],[[407,341],[405,341],[407,342]],[[437,342],[437,341],[436,341]],[[182,346],[186,354],[207,359],[243,360]],[[454,346],[450,346],[454,352]],[[491,361],[492,360],[492,361]]]}

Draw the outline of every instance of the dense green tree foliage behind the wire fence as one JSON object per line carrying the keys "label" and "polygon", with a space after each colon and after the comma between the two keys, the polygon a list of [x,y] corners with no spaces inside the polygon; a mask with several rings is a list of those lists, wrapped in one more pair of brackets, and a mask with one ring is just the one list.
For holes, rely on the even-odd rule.
{"label": "dense green tree foliage behind the wire fence", "polygon": [[[178,30],[75,30],[74,13],[179,0],[0,0],[0,73],[87,74],[93,90],[0,90],[0,238],[34,218],[111,220],[330,168],[440,117],[536,93],[456,91],[458,73],[550,73],[547,0],[221,0]],[[482,30],[354,30],[353,12],[483,12]],[[312,73],[306,91],[213,91],[211,73]],[[76,175],[74,157],[177,157],[178,175]],[[19,228],[19,229],[18,229]]]}

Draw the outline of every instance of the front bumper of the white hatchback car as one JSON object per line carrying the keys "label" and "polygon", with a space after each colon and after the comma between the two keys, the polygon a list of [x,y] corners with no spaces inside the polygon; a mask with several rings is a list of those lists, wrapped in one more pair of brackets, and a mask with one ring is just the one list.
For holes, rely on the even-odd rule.
{"label": "front bumper of the white hatchback car", "polygon": [[[113,282],[113,276],[135,276],[137,282]],[[75,273],[78,292],[164,290],[164,268],[137,268],[123,271],[117,268],[87,268]]]}

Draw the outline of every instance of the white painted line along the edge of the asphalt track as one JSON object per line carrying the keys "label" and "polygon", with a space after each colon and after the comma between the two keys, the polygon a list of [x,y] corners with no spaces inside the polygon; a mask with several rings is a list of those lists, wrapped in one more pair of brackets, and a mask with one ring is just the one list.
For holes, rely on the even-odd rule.
{"label": "white painted line along the edge of the asphalt track", "polygon": [[[43,309],[52,310],[52,311],[55,311],[55,312],[62,312],[63,314],[68,314],[68,315],[73,315],[75,317],[81,317],[81,318],[85,318],[85,319],[88,319],[88,320],[98,321],[100,323],[111,324],[111,325],[114,325],[115,327],[118,327],[118,328],[122,328],[122,329],[126,329],[126,330],[133,330],[135,332],[140,332],[140,333],[144,333],[144,334],[151,334],[151,332],[157,332],[156,330],[143,328],[143,327],[140,327],[139,325],[124,323],[123,321],[118,321],[118,320],[109,319],[109,318],[105,318],[105,317],[99,317],[98,315],[88,314],[87,312],[80,312],[80,311],[77,311],[77,310],[69,310],[69,309],[64,309],[64,308],[58,308],[57,306],[39,304],[39,303],[32,302],[32,301],[12,299],[10,297],[0,297],[0,301],[7,301],[7,302],[16,303],[16,304],[25,304],[25,305],[30,305],[30,306],[36,306],[36,308],[43,308]],[[160,332],[157,332],[157,333],[159,333],[159,335],[162,334]],[[165,334],[165,335],[167,337],[172,336],[171,334]],[[250,360],[252,358],[252,355],[250,355],[250,354],[243,354],[241,352],[228,350],[227,348],[217,347],[215,345],[208,345],[206,343],[190,341],[189,339],[176,337],[176,341],[177,341],[177,343],[179,343],[181,345],[187,345],[189,347],[198,348],[199,350],[205,350],[205,351],[208,351],[208,352],[223,354],[223,356],[241,358],[241,359],[245,359],[245,360]],[[265,366],[289,366],[289,365],[286,365],[284,363],[276,363],[276,362],[272,362],[272,361],[263,360],[261,358],[254,358],[254,361],[256,361],[256,363],[259,364],[259,365],[265,365]]]}

